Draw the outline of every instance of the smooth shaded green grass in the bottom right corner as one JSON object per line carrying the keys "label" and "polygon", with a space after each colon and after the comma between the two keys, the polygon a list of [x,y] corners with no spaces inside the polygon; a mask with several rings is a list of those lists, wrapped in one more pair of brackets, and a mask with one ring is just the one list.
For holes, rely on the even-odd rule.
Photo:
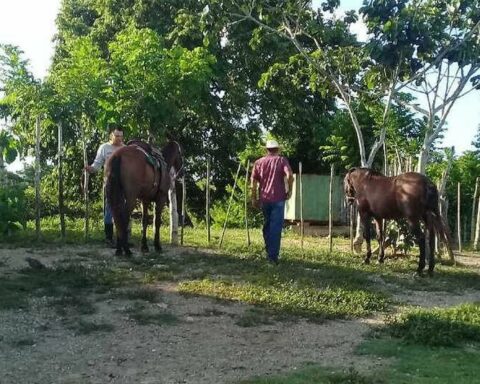
{"label": "smooth shaded green grass in the bottom right corner", "polygon": [[431,347],[384,337],[362,343],[356,352],[391,359],[388,365],[385,361],[384,368],[372,373],[388,384],[471,384],[480,377],[478,346]]}

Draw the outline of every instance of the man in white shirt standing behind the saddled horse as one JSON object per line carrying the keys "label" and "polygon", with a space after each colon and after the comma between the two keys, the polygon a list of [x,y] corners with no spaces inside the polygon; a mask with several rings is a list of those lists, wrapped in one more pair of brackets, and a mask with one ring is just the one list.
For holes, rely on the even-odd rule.
{"label": "man in white shirt standing behind the saddled horse", "polygon": [[[119,148],[124,147],[123,129],[114,127],[110,130],[110,141],[100,145],[97,156],[91,165],[85,166],[88,173],[98,172],[105,164],[107,159]],[[105,240],[110,246],[114,246],[113,241],[113,217],[110,205],[106,200],[103,201],[103,222],[105,225]]]}

